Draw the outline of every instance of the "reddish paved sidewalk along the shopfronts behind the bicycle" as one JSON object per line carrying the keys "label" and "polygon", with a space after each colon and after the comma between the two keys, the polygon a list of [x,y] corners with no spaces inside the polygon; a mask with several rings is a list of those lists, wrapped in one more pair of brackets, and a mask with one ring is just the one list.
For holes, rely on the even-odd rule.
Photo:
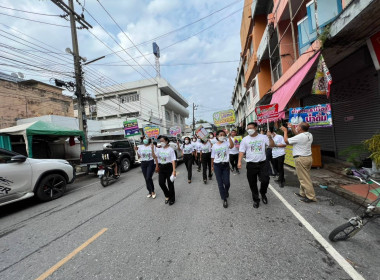
{"label": "reddish paved sidewalk along the shopfronts behind the bicycle", "polygon": [[[374,201],[380,194],[380,186],[361,184],[359,180],[348,177],[344,173],[347,167],[344,163],[334,162],[324,164],[321,169],[312,168],[310,173],[314,188],[326,189],[357,204],[366,205]],[[297,176],[293,167],[285,165],[285,169]]]}

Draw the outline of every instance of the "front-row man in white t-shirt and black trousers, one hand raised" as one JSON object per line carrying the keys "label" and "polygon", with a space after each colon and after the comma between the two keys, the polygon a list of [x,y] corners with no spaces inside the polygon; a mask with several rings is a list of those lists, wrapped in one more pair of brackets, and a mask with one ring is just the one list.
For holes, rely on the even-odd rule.
{"label": "front-row man in white t-shirt and black trousers, one hand raised", "polygon": [[258,133],[257,123],[251,122],[247,125],[248,136],[244,137],[240,143],[238,168],[241,168],[241,161],[245,154],[247,161],[247,179],[252,192],[253,207],[259,208],[260,198],[257,189],[257,176],[259,176],[260,194],[264,204],[268,203],[266,196],[269,185],[269,174],[266,165],[266,147],[274,147],[272,134],[267,135]]}

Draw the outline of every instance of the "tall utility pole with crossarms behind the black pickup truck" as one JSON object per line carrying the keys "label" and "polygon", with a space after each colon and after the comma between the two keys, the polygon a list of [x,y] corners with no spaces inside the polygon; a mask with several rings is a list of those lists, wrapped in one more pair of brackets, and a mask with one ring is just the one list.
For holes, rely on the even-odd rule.
{"label": "tall utility pole with crossarms behind the black pickup truck", "polygon": [[79,55],[76,22],[78,22],[82,26],[82,28],[85,28],[85,29],[92,28],[92,26],[88,22],[86,22],[83,15],[79,15],[75,12],[73,0],[68,0],[69,5],[66,5],[62,0],[51,0],[51,1],[55,5],[57,5],[60,9],[62,9],[66,13],[66,15],[70,16],[71,39],[72,39],[73,51],[71,52],[69,49],[69,52],[74,57],[75,95],[77,96],[79,130],[83,131],[84,138],[85,138],[83,139],[85,144],[81,147],[81,149],[87,150],[87,146],[88,146],[87,119],[86,119],[86,112],[84,109],[85,89],[83,86],[83,73],[82,73],[82,65],[80,61],[81,59],[85,61],[85,59],[83,59]]}

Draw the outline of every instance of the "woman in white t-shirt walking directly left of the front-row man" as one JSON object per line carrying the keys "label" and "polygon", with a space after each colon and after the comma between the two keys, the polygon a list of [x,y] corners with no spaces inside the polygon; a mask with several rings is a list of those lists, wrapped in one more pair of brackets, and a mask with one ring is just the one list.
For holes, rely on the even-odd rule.
{"label": "woman in white t-shirt walking directly left of the front-row man", "polygon": [[229,197],[230,189],[230,162],[229,162],[229,149],[234,146],[231,136],[226,142],[226,133],[223,130],[216,132],[216,142],[211,150],[211,170],[215,172],[216,181],[220,197],[223,200],[223,207],[227,208],[227,198]]}

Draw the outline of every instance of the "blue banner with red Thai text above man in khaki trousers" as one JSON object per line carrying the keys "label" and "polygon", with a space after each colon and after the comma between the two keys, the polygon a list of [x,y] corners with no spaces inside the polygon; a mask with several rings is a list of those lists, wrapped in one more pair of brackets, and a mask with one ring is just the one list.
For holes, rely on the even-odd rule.
{"label": "blue banner with red Thai text above man in khaki trousers", "polygon": [[307,122],[311,128],[331,127],[331,105],[313,105],[289,109],[289,121],[292,125]]}

